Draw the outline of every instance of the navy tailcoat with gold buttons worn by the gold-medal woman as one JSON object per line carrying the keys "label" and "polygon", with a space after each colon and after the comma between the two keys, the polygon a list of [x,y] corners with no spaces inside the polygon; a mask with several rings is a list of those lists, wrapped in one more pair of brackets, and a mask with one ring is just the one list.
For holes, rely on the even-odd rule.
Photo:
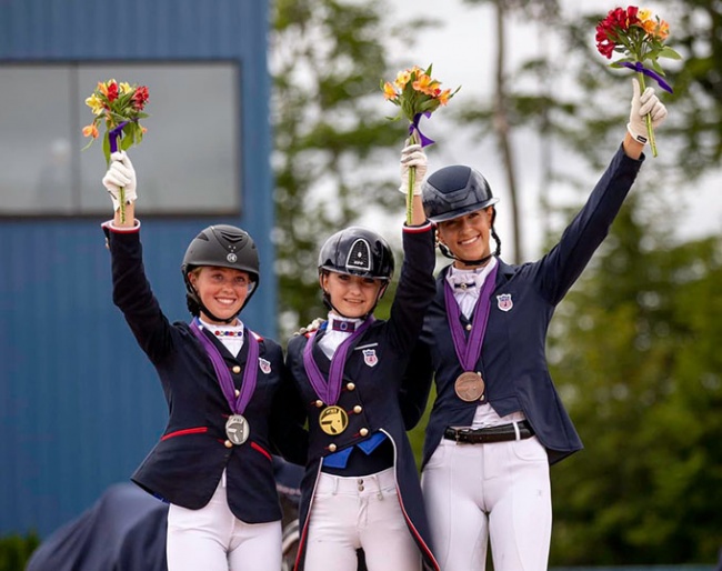
{"label": "navy tailcoat with gold buttons worn by the gold-medal woman", "polygon": [[[409,529],[424,557],[424,565],[438,569],[430,553],[430,534],[419,473],[404,428],[404,422],[418,421],[414,411],[419,404],[412,403],[402,414],[399,402],[403,371],[421,331],[424,311],[435,291],[431,228],[422,232],[407,229],[403,247],[404,261],[390,318],[388,321],[377,320],[350,351],[347,360],[338,405],[349,414],[349,427],[337,435],[327,434],[319,427],[322,409],[315,405],[319,398],[303,368],[303,349],[308,334],[297,335],[289,342],[287,364],[293,380],[282,389],[282,394],[289,399],[289,415],[297,425],[303,425],[308,419],[310,427],[309,461],[301,484],[301,553],[322,458],[335,450],[353,447],[381,431],[395,450],[397,484]],[[323,332],[318,333],[319,337],[322,334]],[[328,372],[329,360],[323,359],[315,343],[313,353],[321,371]],[[420,387],[419,390],[425,388]],[[300,571],[303,569],[302,555],[299,565]]]}

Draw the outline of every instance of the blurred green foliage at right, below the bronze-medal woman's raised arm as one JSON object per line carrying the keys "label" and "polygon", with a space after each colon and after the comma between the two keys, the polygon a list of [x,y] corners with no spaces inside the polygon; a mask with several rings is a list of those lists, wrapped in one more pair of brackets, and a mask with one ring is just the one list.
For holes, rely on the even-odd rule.
{"label": "blurred green foliage at right, below the bronze-medal woman's raised arm", "polygon": [[722,240],[660,243],[636,202],[550,338],[586,443],[552,469],[555,564],[705,563],[720,549]]}

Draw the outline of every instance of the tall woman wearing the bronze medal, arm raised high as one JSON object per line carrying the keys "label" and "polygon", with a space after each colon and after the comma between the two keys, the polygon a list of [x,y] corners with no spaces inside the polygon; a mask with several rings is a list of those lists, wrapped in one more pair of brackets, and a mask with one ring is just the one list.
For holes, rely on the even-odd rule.
{"label": "tall woman wearing the bronze medal, arm raised high", "polygon": [[432,371],[435,377],[422,489],[444,571],[483,570],[489,538],[495,571],[546,569],[549,465],[582,443],[550,378],[545,334],[634,182],[644,160],[645,116],[653,127],[666,117],[654,90],[640,94],[633,82],[622,146],[559,243],[539,261],[515,266],[499,257],[498,199],[478,171],[447,167],[423,184],[427,217],[453,262],[437,279],[408,374],[429,383]]}

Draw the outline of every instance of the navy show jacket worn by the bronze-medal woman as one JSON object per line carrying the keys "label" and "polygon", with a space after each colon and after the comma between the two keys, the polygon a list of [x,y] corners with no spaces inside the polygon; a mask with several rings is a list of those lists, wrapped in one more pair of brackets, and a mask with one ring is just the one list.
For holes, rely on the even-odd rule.
{"label": "navy show jacket worn by the bronze-medal woman", "polygon": [[[556,304],[609,233],[642,161],[643,158],[626,157],[620,149],[559,243],[541,260],[521,266],[499,260],[487,334],[475,370],[482,373],[488,401],[500,415],[524,412],[551,463],[583,447],[546,364],[549,322]],[[422,391],[428,391],[435,371],[438,395],[427,427],[423,464],[447,427],[471,424],[478,404],[462,401],[454,392],[454,381],[462,369],[447,321],[443,284],[448,271],[449,267],[444,268],[437,279],[437,295],[407,371]],[[463,325],[469,323],[463,315],[460,319]],[[421,389],[424,384],[425,389]]]}

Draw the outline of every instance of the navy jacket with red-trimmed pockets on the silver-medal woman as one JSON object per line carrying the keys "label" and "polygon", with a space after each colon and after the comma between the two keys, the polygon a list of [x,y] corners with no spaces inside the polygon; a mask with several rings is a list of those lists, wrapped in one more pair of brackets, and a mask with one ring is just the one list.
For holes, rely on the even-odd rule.
{"label": "navy jacket with red-trimmed pockets on the silver-medal woman", "polygon": [[[258,369],[258,380],[243,412],[250,435],[243,444],[227,443],[230,405],[210,358],[189,324],[171,324],[161,311],[146,278],[139,227],[119,229],[106,223],[103,230],[112,254],[113,302],[156,368],[169,408],[166,430],[132,481],[168,502],[195,510],[209,502],[225,470],[228,503],[238,519],[247,523],[280,520],[270,414],[284,375],[281,347],[255,335],[259,362],[251,364]],[[248,342],[233,357],[215,335],[204,328],[202,331],[221,352],[240,389]],[[244,331],[248,334],[250,330]]]}

